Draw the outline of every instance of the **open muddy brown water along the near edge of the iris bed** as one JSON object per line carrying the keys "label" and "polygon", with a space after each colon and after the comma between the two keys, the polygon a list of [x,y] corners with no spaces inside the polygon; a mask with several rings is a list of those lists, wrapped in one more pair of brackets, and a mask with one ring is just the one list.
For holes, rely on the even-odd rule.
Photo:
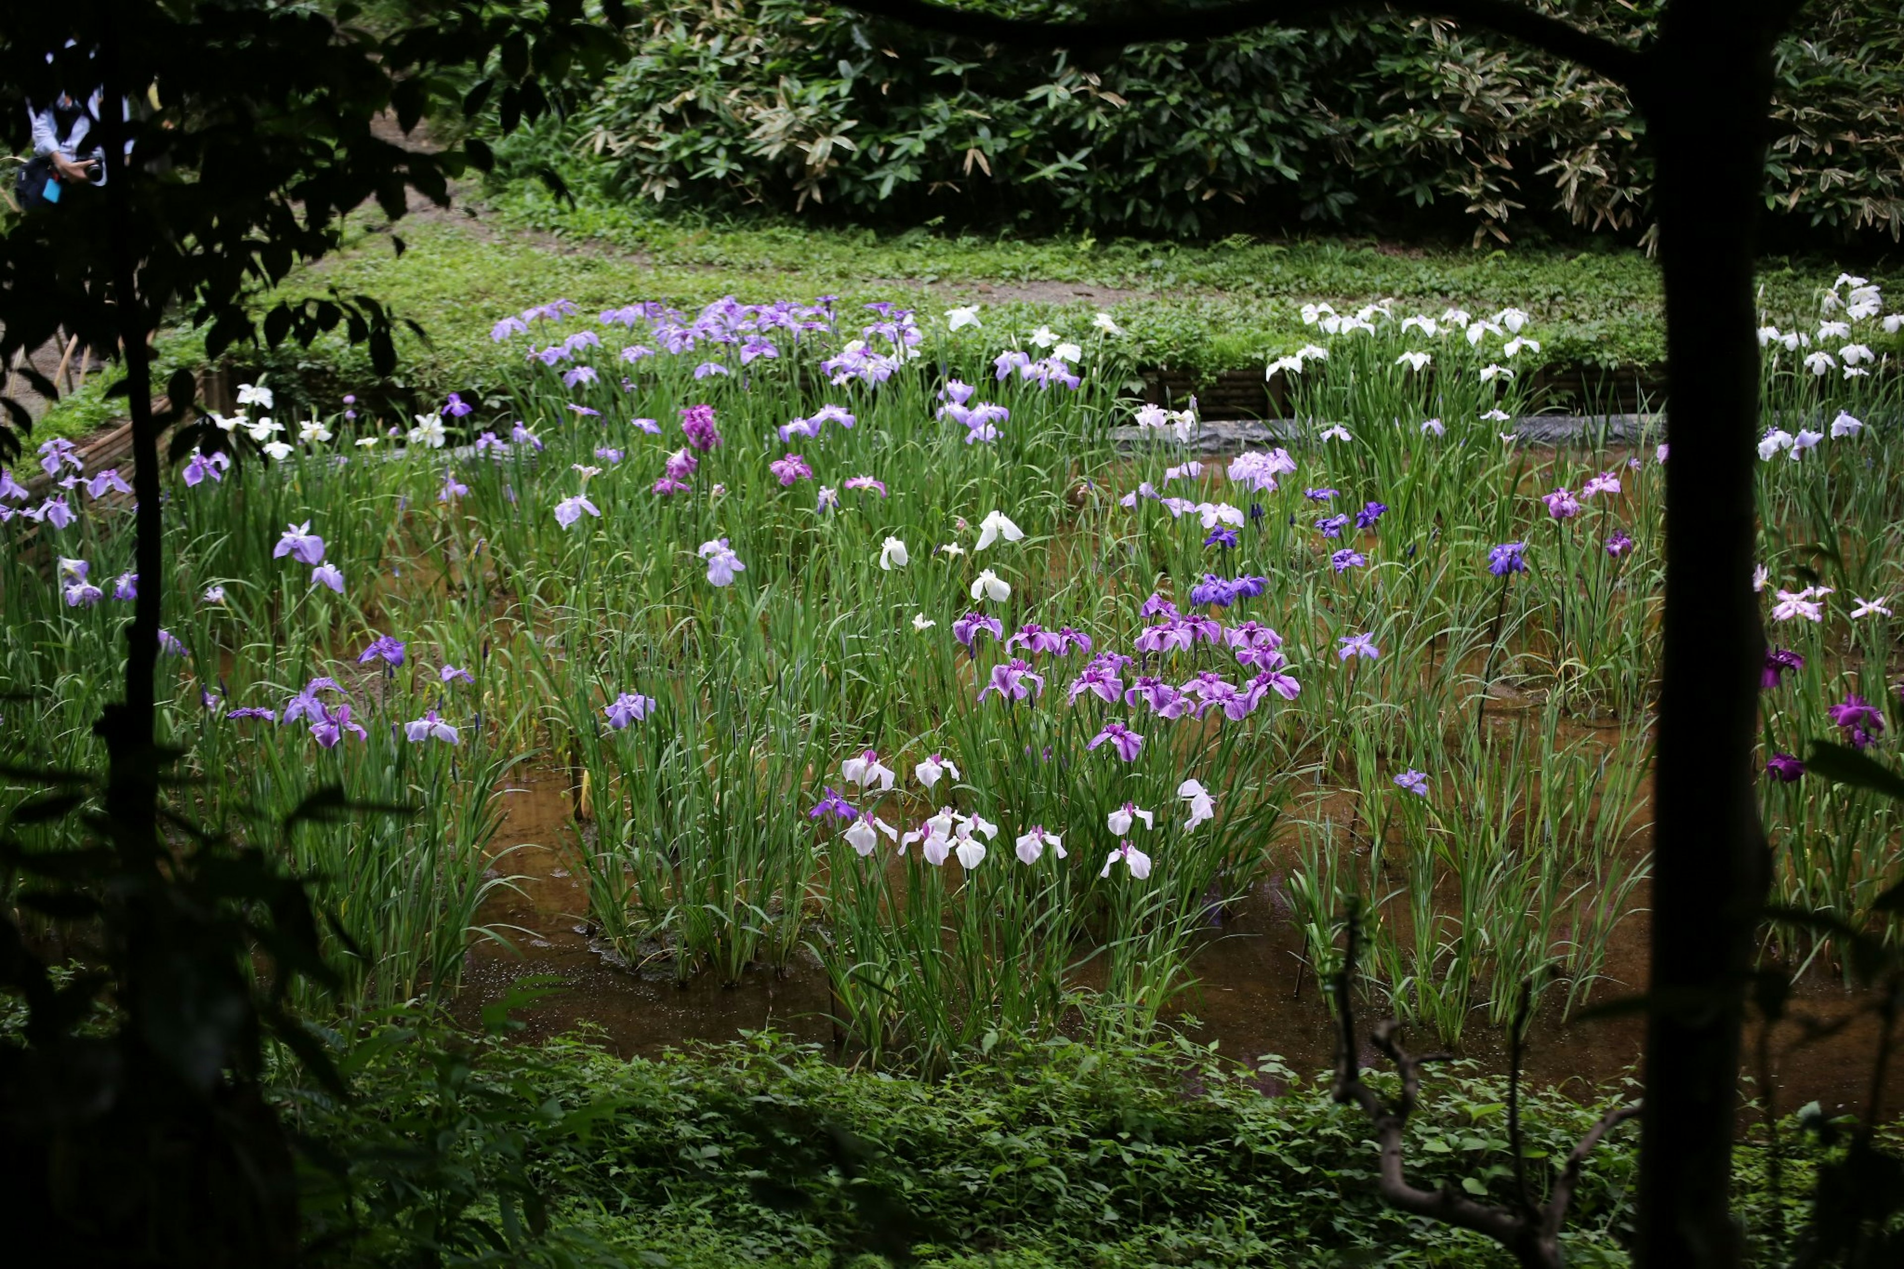
{"label": "open muddy brown water along the near edge of the iris bed", "polygon": [[[830,1046],[824,970],[811,958],[784,974],[750,970],[733,987],[703,974],[678,985],[668,966],[628,970],[602,957],[586,936],[586,896],[575,875],[571,796],[560,774],[539,772],[505,791],[505,819],[495,850],[503,873],[516,876],[486,905],[482,920],[506,928],[512,949],[480,941],[465,972],[459,1016],[474,1019],[484,1004],[503,998],[524,976],[552,976],[560,989],[518,1014],[526,1038],[560,1035],[579,1023],[598,1029],[621,1056],[653,1056],[693,1042],[739,1038],[743,1031],[773,1029],[798,1040]],[[1636,897],[1645,907],[1645,894]],[[1300,960],[1300,936],[1287,920],[1278,873],[1260,880],[1224,920],[1201,939],[1192,960],[1200,985],[1180,998],[1169,1023],[1190,1040],[1217,1040],[1219,1054],[1251,1061],[1278,1054],[1295,1071],[1323,1071],[1333,1058],[1329,1008]],[[1637,993],[1645,985],[1647,915],[1636,913],[1615,934],[1605,972],[1615,979],[1596,989],[1596,1000]],[[1795,1008],[1837,1017],[1856,1000],[1832,979],[1807,979]],[[1363,1031],[1367,1029],[1363,1021]],[[1744,1073],[1755,1078],[1755,1029],[1746,1035]],[[1868,1101],[1877,1031],[1862,1017],[1843,1033],[1794,1046],[1792,1029],[1775,1033],[1775,1088],[1780,1109],[1818,1101],[1826,1111],[1860,1111]],[[1643,1023],[1637,1017],[1559,1021],[1537,1019],[1529,1037],[1529,1078],[1577,1090],[1615,1086],[1637,1073]],[[1415,1048],[1432,1048],[1417,1035]],[[1485,1071],[1504,1071],[1506,1052],[1497,1029],[1474,1025],[1460,1056]],[[1371,1050],[1369,1065],[1380,1065]],[[1893,1069],[1883,1088],[1883,1113],[1904,1111],[1904,1077]]]}

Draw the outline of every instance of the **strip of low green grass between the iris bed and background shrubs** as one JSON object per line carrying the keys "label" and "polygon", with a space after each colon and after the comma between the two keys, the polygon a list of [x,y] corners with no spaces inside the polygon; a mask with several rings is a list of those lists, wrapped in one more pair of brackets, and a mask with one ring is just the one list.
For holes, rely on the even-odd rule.
{"label": "strip of low green grass between the iris bed and background shrubs", "polygon": [[[1523,366],[1656,368],[1666,356],[1656,261],[1603,240],[1468,250],[1371,238],[1026,240],[927,227],[882,234],[781,219],[718,223],[586,196],[565,206],[526,185],[491,189],[468,206],[476,217],[430,212],[394,229],[358,213],[341,252],[293,272],[259,299],[259,311],[278,295],[329,288],[375,295],[426,332],[400,335],[392,385],[478,398],[499,383],[489,326],[558,295],[588,311],[634,299],[695,309],[727,293],[744,301],[830,293],[849,305],[889,299],[935,318],[954,303],[979,303],[1000,347],[1040,324],[1080,332],[1108,309],[1129,332],[1137,364],[1200,375],[1259,370],[1308,343],[1314,330],[1300,307],[1312,301],[1352,309],[1394,299],[1401,312],[1434,314],[1451,303],[1476,312],[1514,305],[1533,314],[1540,341]],[[392,238],[402,238],[402,253]],[[1780,324],[1809,320],[1816,288],[1835,271],[1822,259],[1763,261],[1763,311]],[[1904,274],[1877,280],[1894,292]],[[200,349],[183,328],[160,341],[168,366],[192,364]],[[238,377],[268,375],[280,394],[322,408],[343,393],[392,387],[379,385],[362,349],[335,335],[310,349],[242,349],[232,362]],[[36,433],[80,436],[114,417],[107,383],[97,377],[59,402]]]}

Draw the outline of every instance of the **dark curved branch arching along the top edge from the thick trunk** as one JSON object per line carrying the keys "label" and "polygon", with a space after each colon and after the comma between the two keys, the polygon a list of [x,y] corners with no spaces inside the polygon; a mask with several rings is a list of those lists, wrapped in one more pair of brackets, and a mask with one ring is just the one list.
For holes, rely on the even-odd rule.
{"label": "dark curved branch arching along the top edge from the thick trunk", "polygon": [[[939,0],[847,0],[842,8],[992,44],[1123,48],[1161,40],[1219,40],[1251,27],[1300,27],[1316,19],[1373,10],[1378,4],[1384,0],[1236,0],[1234,4],[1201,8],[1139,4],[1110,10],[1099,19],[1078,21],[1000,17]],[[1516,0],[1386,0],[1386,8],[1485,27],[1556,57],[1565,57],[1636,91],[1643,88],[1647,78],[1643,53],[1529,10]]]}

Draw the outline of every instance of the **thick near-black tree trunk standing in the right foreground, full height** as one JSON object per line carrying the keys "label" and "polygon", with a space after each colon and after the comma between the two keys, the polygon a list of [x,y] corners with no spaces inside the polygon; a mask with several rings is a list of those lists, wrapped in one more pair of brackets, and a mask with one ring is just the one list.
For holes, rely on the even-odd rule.
{"label": "thick near-black tree trunk standing in the right foreground, full height", "polygon": [[1674,0],[1647,99],[1672,377],[1637,1246],[1651,1269],[1742,1254],[1727,1197],[1744,979],[1769,876],[1752,777],[1763,657],[1752,261],[1773,38],[1757,8]]}

